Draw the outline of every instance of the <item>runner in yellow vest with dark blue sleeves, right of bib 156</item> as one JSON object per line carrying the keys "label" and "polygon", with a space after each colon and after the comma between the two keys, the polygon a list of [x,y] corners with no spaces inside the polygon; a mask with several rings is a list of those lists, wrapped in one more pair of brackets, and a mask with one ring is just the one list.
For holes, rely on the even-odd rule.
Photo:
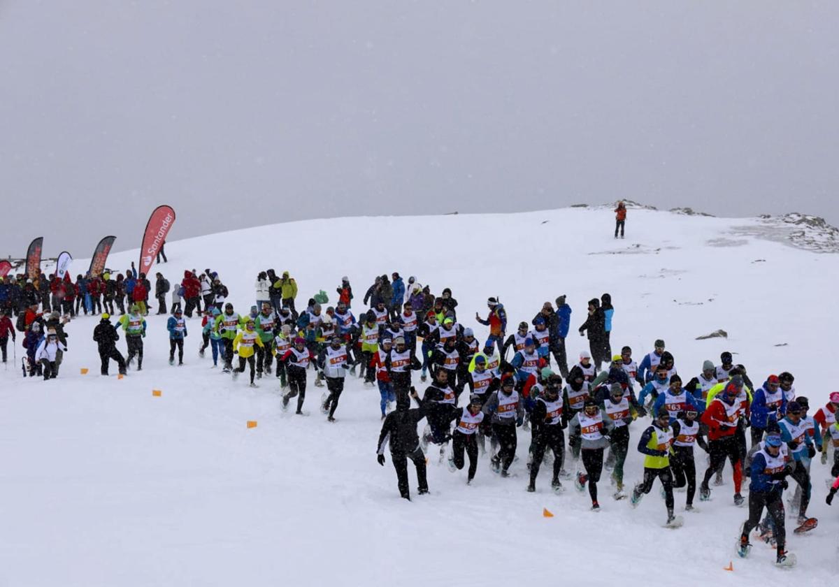
{"label": "runner in yellow vest with dark blue sleeves, right of bib 156", "polygon": [[673,474],[670,472],[670,445],[673,444],[673,430],[670,429],[670,413],[662,410],[653,420],[653,425],[644,430],[638,440],[638,452],[644,455],[644,481],[632,491],[629,502],[638,506],[641,497],[653,489],[656,478],[664,486],[664,503],[667,505],[667,526],[680,526],[673,515]]}

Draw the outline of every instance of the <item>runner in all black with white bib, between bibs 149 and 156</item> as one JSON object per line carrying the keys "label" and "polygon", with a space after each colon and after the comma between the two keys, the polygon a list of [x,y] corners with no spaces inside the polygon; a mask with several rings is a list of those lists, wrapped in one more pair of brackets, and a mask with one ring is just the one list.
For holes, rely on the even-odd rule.
{"label": "runner in all black with white bib, between bibs 149 and 156", "polygon": [[550,486],[554,491],[561,491],[560,471],[565,460],[565,433],[562,431],[568,423],[562,418],[562,377],[552,373],[545,382],[545,392],[536,398],[533,413],[530,414],[530,426],[533,434],[533,460],[530,462],[530,484],[527,491],[536,491],[536,475],[539,465],[545,458],[545,450],[554,451],[554,475]]}

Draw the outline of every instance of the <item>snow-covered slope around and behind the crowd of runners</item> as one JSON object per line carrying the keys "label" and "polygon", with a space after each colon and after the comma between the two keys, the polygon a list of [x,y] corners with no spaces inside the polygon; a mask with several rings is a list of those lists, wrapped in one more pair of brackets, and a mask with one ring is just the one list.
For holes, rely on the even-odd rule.
{"label": "snow-covered slope around and behind the crowd of runners", "polygon": [[[299,304],[321,288],[334,299],[348,275],[357,313],[373,277],[395,270],[437,293],[450,287],[461,321],[482,338],[486,329],[471,317],[485,313],[487,296],[500,297],[517,323],[566,294],[576,328],[586,300],[608,292],[616,308],[612,348],[631,345],[638,360],[664,338],[683,377],[729,350],[755,382],[793,372],[797,392],[814,407],[836,390],[830,373],[814,367],[831,361],[839,257],[760,238],[767,231],[760,219],[630,210],[623,241],[612,238],[612,222],[602,209],[296,222],[170,242],[169,263],[159,269],[175,282],[184,268],[213,268],[242,311],[254,303],[259,270],[288,270]],[[109,265],[125,268],[135,257],[115,254]],[[70,271],[87,264],[77,260]],[[734,560],[734,572],[723,570],[736,558],[733,543],[747,516],[732,505],[729,469],[713,501],[685,514],[681,529],[666,530],[657,489],[631,510],[603,484],[599,514],[570,482],[564,495],[551,493],[545,471],[538,491],[526,493],[529,436],[519,430],[518,476],[493,475],[483,458],[467,487],[465,471],[451,474],[432,458],[431,495],[408,503],[399,499],[390,463],[375,460],[376,389],[350,380],[338,422],[329,424],[310,378],[310,417],[281,413],[274,378],[251,389],[244,377],[232,382],[197,356],[199,319],[189,322],[187,365],[170,367],[157,316],[149,319],[143,371],[100,377],[96,321],[68,326],[58,380],[23,380],[12,363],[0,371],[0,584],[779,580],[774,553],[763,545]],[[720,328],[727,340],[696,340]],[[572,332],[567,346],[576,356],[586,340]],[[81,375],[81,367],[91,372]],[[247,420],[258,427],[246,428]],[[634,439],[641,429],[633,424]],[[704,468],[698,452],[697,466]],[[642,471],[633,442],[626,470],[631,486]],[[820,526],[789,540],[800,584],[836,570],[839,512],[824,504],[828,474],[814,464],[810,512]],[[677,510],[684,502],[677,493]],[[543,517],[545,507],[555,517]]]}

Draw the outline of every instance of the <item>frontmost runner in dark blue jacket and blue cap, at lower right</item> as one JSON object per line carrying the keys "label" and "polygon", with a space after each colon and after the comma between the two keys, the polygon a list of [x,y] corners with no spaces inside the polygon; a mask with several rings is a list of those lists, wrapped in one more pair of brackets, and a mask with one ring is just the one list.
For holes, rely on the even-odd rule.
{"label": "frontmost runner in dark blue jacket and blue cap, at lower right", "polygon": [[793,465],[784,464],[781,455],[783,443],[784,440],[778,434],[769,434],[763,440],[763,448],[752,457],[751,482],[748,486],[748,520],[743,522],[738,551],[743,558],[748,556],[752,547],[748,542],[748,535],[758,527],[765,507],[774,524],[774,539],[778,549],[776,563],[786,564],[788,555],[785,551],[786,531],[782,496],[787,486],[786,477],[791,474]]}

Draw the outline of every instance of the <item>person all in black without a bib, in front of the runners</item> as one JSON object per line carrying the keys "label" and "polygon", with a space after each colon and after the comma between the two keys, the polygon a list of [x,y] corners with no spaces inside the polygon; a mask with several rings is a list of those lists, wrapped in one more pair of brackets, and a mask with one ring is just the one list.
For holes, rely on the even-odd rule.
{"label": "person all in black without a bib, in front of the runners", "polygon": [[[411,389],[411,397],[419,401],[416,390]],[[425,455],[420,449],[420,437],[417,434],[417,423],[425,418],[425,408],[420,403],[419,408],[399,407],[388,413],[382,423],[382,432],[378,435],[378,449],[376,460],[384,466],[384,447],[390,443],[390,459],[396,470],[399,495],[410,501],[408,488],[408,460],[413,460],[417,468],[417,491],[420,495],[428,493],[428,481],[425,478]]]}

